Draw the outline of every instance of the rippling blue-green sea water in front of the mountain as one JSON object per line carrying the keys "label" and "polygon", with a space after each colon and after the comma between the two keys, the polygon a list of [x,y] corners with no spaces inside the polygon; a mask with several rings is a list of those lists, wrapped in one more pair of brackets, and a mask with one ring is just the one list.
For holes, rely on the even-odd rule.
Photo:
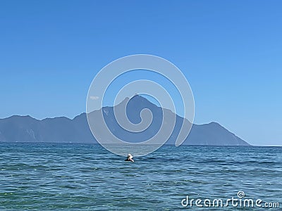
{"label": "rippling blue-green sea water in front of the mountain", "polygon": [[[281,210],[282,148],[163,146],[135,162],[99,145],[0,143],[0,210]],[[245,198],[278,208],[183,207]],[[184,203],[186,200],[184,200]]]}

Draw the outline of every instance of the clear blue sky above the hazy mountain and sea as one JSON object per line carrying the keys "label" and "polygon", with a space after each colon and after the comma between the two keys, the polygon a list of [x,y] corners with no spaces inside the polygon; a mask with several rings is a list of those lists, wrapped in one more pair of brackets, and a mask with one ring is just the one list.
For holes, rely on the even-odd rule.
{"label": "clear blue sky above the hazy mountain and sea", "polygon": [[75,117],[94,75],[148,53],[182,70],[195,123],[282,145],[282,1],[0,1],[0,118]]}

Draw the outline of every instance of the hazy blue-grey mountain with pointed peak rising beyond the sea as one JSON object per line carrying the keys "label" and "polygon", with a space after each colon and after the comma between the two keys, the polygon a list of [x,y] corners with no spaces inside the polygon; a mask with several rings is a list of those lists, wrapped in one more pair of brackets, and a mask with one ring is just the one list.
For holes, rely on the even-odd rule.
{"label": "hazy blue-grey mountain with pointed peak rising beyond the sea", "polygon": [[[150,126],[140,133],[128,132],[123,129],[114,117],[115,112],[121,112],[126,107],[126,115],[130,122],[137,124],[141,121],[140,111],[148,108],[152,113],[152,123]],[[90,113],[91,119],[94,121],[95,128],[103,135],[104,139],[111,137],[104,136],[102,124],[97,120],[97,116],[101,110]],[[123,102],[114,107],[103,107],[102,113],[104,119],[111,132],[120,139],[128,142],[141,142],[154,136],[161,127],[163,113],[162,109],[154,103],[151,103],[142,96],[134,96],[133,98],[125,98]],[[164,115],[171,115],[171,110],[164,109]],[[143,117],[143,116],[142,116]],[[145,115],[146,117],[146,115]],[[166,142],[167,144],[175,144],[176,137],[180,132],[183,121],[188,121],[176,115],[176,126]],[[164,125],[166,127],[166,125]],[[169,129],[169,128],[167,128]],[[12,116],[0,119],[0,141],[8,142],[65,142],[65,143],[97,143],[92,135],[87,123],[85,113],[76,116],[73,120],[67,117],[54,117],[44,120],[36,120],[30,116]],[[191,132],[184,143],[186,145],[219,145],[219,146],[247,146],[250,145],[235,134],[229,132],[216,122],[209,124],[193,124]]]}

